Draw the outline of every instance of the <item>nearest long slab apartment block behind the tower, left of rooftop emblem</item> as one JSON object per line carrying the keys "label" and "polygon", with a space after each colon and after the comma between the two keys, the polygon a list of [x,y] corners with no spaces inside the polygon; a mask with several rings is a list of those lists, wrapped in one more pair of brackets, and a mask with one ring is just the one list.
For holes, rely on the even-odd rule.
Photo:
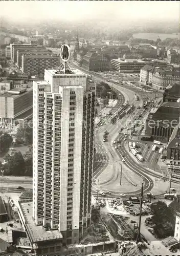
{"label": "nearest long slab apartment block behind the tower, left of rooftop emblem", "polygon": [[30,53],[22,54],[21,62],[22,72],[43,76],[45,69],[59,67],[60,58],[52,53]]}

